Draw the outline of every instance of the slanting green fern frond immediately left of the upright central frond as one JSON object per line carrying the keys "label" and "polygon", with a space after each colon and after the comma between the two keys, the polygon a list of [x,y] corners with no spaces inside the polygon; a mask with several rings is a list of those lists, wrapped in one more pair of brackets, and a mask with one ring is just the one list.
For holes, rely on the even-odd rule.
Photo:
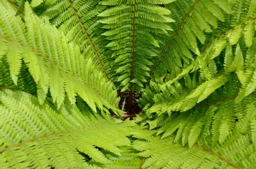
{"label": "slanting green fern frond immediately left of the upright central frond", "polygon": [[49,17],[50,23],[63,31],[69,42],[77,44],[85,57],[98,62],[99,69],[108,76],[108,64],[111,62],[108,61],[110,57],[107,57],[109,54],[105,48],[108,41],[100,35],[103,24],[97,22],[97,15],[106,6],[98,3],[98,0],[57,1],[43,12],[43,16]]}

